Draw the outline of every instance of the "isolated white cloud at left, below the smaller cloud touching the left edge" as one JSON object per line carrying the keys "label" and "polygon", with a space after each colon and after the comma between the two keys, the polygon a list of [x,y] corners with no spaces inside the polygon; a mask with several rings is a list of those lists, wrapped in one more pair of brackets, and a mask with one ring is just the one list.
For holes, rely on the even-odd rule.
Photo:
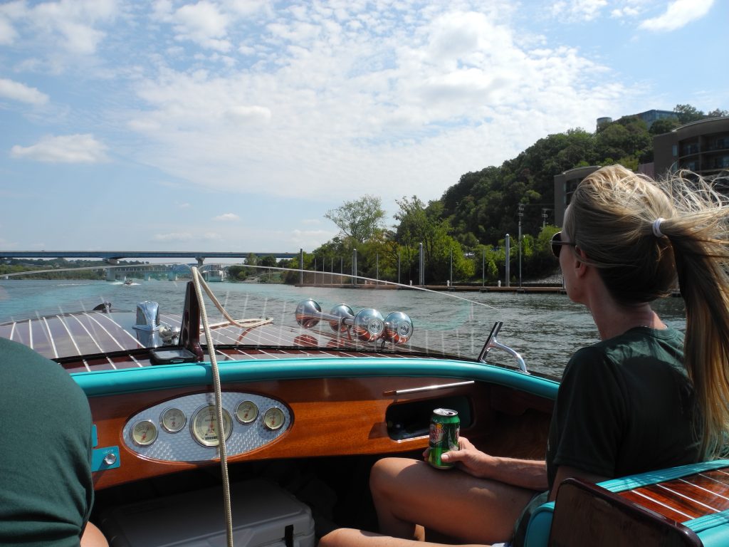
{"label": "isolated white cloud at left, below the smaller cloud touching the left edge", "polygon": [[46,136],[29,147],[12,147],[10,155],[44,163],[100,163],[108,160],[106,146],[91,134]]}

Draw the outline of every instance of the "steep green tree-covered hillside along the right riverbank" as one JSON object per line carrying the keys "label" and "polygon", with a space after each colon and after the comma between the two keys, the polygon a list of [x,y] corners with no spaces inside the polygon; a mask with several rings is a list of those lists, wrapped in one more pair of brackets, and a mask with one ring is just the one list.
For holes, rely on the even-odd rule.
{"label": "steep green tree-covered hillside along the right riverbank", "polygon": [[[705,117],[729,112],[716,109],[704,114],[688,104],[674,109],[675,117],[648,125],[637,116],[625,116],[601,124],[594,133],[574,128],[539,139],[516,158],[501,166],[462,175],[439,200],[424,203],[418,196],[397,201],[397,224],[391,230],[381,225],[380,200],[363,196],[348,201],[325,215],[342,233],[305,258],[324,271],[351,272],[352,249],[358,252],[359,275],[417,282],[418,246],[424,245],[426,283],[495,282],[504,278],[504,236],[512,237],[510,260],[517,259],[518,222],[521,213],[523,276],[527,279],[550,273],[556,266],[550,257],[549,238],[554,224],[554,176],[575,167],[620,163],[637,170],[653,160],[653,137]],[[352,222],[368,222],[367,237]],[[311,259],[311,263],[307,261]],[[297,260],[293,261],[297,264]],[[453,271],[453,274],[451,274]],[[515,276],[512,263],[511,274]],[[404,273],[403,273],[404,272]]]}

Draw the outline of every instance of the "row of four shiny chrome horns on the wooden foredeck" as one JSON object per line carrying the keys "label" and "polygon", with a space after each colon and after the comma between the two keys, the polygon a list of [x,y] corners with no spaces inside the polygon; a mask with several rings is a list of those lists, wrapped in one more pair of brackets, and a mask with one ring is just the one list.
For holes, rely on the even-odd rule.
{"label": "row of four shiny chrome horns on the wooden foredeck", "polygon": [[357,314],[346,304],[337,304],[330,313],[321,311],[315,300],[302,300],[296,306],[296,322],[312,328],[319,321],[327,321],[335,333],[351,332],[362,341],[371,342],[384,338],[393,344],[405,344],[413,335],[413,322],[402,311],[393,311],[385,319],[376,309],[365,308]]}

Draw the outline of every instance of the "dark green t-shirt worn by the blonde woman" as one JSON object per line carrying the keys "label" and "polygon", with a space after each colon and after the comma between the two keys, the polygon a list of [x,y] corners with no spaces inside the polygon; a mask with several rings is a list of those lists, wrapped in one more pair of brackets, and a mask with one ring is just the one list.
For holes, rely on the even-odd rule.
{"label": "dark green t-shirt worn by the blonde woman", "polygon": [[567,364],[547,443],[550,489],[568,465],[607,478],[697,462],[683,335],[636,327]]}

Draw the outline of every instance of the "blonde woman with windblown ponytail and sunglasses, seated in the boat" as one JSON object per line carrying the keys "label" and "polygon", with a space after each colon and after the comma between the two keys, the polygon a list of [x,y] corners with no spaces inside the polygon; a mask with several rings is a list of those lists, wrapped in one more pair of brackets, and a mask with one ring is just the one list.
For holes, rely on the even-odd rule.
{"label": "blonde woman with windblown ponytail and sunglasses, seated in the boat", "polygon": [[[600,341],[566,365],[545,461],[494,457],[465,438],[443,456],[455,473],[381,459],[370,476],[381,535],[335,529],[320,546],[413,547],[425,529],[454,543],[519,546],[530,511],[565,478],[599,482],[719,457],[729,427],[728,226],[729,202],[697,176],[653,182],[622,166],[587,176],[552,248]],[[685,335],[651,308],[676,287]]]}

